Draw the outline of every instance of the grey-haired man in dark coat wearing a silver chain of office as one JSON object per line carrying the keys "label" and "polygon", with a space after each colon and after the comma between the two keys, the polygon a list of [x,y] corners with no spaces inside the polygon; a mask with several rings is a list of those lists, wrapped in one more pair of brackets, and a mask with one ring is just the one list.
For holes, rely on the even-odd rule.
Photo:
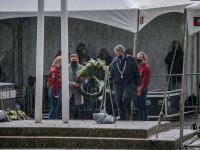
{"label": "grey-haired man in dark coat wearing a silver chain of office", "polygon": [[115,103],[121,120],[130,120],[131,102],[140,96],[140,70],[136,59],[125,53],[122,45],[114,48],[116,57],[110,69],[111,81],[115,91]]}

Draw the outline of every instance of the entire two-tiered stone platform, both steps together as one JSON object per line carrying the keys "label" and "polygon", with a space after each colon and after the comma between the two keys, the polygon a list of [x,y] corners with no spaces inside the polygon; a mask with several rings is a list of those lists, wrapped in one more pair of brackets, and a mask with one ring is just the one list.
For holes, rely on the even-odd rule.
{"label": "entire two-tiered stone platform, both steps together", "polygon": [[[157,121],[117,121],[97,124],[93,120],[34,120],[0,123],[0,148],[78,148],[78,149],[174,149],[179,129],[162,122],[158,139]],[[184,140],[195,135],[185,129]]]}

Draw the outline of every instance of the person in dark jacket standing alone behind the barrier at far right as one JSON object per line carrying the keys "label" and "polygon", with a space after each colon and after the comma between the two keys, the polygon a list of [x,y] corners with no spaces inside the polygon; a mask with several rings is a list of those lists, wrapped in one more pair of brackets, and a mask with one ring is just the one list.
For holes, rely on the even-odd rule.
{"label": "person in dark jacket standing alone behind the barrier at far right", "polygon": [[[167,54],[167,57],[165,58],[165,64],[168,65],[168,67],[167,67],[168,74],[170,72],[170,68],[172,65],[172,60],[174,57],[176,44],[177,44],[177,41],[172,42],[172,51],[170,51]],[[180,46],[180,42],[178,41],[176,56],[175,56],[174,65],[172,68],[172,74],[182,74],[182,72],[183,72],[183,54],[184,54],[184,52]],[[171,90],[181,89],[181,79],[182,79],[182,75],[171,76],[168,90],[171,91]]]}

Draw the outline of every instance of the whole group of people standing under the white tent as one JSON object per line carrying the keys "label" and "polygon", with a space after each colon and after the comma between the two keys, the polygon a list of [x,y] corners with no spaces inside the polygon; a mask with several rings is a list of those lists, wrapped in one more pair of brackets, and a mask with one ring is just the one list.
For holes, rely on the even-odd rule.
{"label": "whole group of people standing under the white tent", "polygon": [[[173,54],[177,41],[172,42],[172,51],[168,53],[165,58],[165,63],[168,65],[168,71],[171,67]],[[177,44],[175,67],[172,73],[179,74],[181,71],[181,63],[183,61],[183,52],[180,46],[180,42]],[[147,56],[144,52],[139,52],[137,58],[133,57],[133,50],[128,48],[124,49],[122,45],[118,45],[114,48],[116,56],[112,58],[106,48],[102,48],[98,57],[101,60],[105,60],[106,65],[110,66],[110,81],[112,83],[112,89],[114,90],[114,103],[116,104],[120,116],[120,120],[131,119],[131,102],[134,101],[138,108],[138,120],[148,120],[148,109],[146,106],[146,97],[148,93],[148,84],[150,83],[151,68],[147,65]],[[61,55],[61,53],[59,54]],[[70,55],[69,62],[69,95],[70,95],[70,119],[80,118],[80,106],[88,101],[83,97],[76,89],[76,87],[83,86],[83,89],[87,92],[91,92],[88,89],[87,84],[95,86],[95,81],[91,78],[87,84],[76,83],[76,72],[84,68],[91,58],[89,57],[89,51],[86,49],[83,43],[79,44],[76,49],[76,54]],[[178,69],[177,69],[178,67]],[[51,86],[49,90],[49,97],[51,99],[51,110],[49,113],[49,119],[57,119],[57,112],[61,101],[61,56],[56,56],[52,68],[49,72],[49,84]],[[180,81],[179,78],[176,80]],[[85,78],[81,77],[81,81],[84,83]],[[172,78],[173,85],[175,86],[174,78]],[[176,82],[177,83],[177,82]],[[178,86],[179,86],[178,82]],[[177,86],[177,85],[176,85]],[[171,89],[170,89],[171,90]],[[111,108],[110,108],[111,109]],[[110,111],[112,112],[112,111]]]}

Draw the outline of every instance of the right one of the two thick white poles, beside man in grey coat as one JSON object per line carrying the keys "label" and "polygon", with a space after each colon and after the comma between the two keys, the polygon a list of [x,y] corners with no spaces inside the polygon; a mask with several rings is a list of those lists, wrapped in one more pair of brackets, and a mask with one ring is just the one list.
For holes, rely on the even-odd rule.
{"label": "right one of the two thick white poles, beside man in grey coat", "polygon": [[68,12],[67,0],[61,0],[62,121],[69,121]]}

